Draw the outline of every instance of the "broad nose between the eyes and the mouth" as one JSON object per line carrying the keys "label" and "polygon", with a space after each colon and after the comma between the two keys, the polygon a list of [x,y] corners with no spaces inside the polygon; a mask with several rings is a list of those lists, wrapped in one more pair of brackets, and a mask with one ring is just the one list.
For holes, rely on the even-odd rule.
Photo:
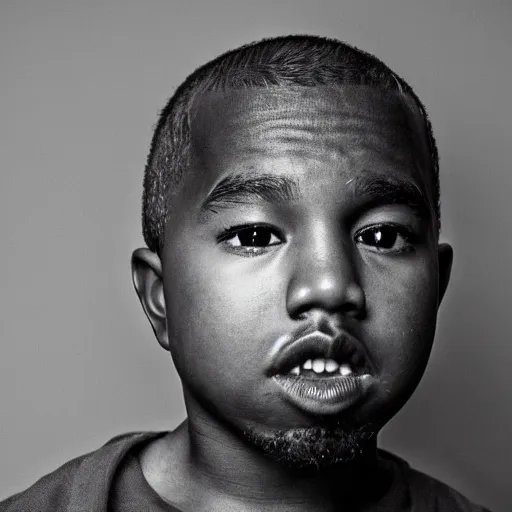
{"label": "broad nose between the eyes and the mouth", "polygon": [[312,310],[362,318],[365,294],[350,242],[340,237],[318,238],[310,238],[298,250],[286,297],[290,318],[300,319]]}

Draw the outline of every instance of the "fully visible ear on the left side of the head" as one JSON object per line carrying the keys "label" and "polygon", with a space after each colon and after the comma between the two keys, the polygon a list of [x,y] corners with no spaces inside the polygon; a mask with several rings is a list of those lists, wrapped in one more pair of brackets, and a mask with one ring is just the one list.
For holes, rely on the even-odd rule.
{"label": "fully visible ear on the left side of the head", "polygon": [[158,255],[145,248],[133,251],[132,279],[158,343],[169,350],[162,263]]}

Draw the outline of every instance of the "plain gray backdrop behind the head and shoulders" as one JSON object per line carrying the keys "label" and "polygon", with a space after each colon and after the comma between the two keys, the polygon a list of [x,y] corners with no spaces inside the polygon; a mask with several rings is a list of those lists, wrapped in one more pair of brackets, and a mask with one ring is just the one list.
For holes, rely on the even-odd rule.
{"label": "plain gray backdrop behind the head and shoulders", "polygon": [[117,433],[185,416],[130,277],[157,112],[265,36],[336,37],[426,104],[453,277],[427,374],[381,445],[512,509],[512,2],[2,0],[0,498]]}

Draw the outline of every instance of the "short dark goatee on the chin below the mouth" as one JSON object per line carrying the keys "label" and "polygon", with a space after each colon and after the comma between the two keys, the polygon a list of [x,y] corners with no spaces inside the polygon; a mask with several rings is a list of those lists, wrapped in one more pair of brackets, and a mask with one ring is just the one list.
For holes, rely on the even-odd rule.
{"label": "short dark goatee on the chin below the mouth", "polygon": [[357,429],[340,423],[262,432],[244,431],[245,439],[276,463],[294,470],[321,471],[350,466],[375,451],[378,428]]}

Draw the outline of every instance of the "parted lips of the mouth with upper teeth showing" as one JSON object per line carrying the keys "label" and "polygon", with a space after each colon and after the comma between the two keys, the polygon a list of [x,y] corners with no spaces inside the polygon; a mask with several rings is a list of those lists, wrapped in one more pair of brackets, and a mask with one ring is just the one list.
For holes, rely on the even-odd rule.
{"label": "parted lips of the mouth with upper teeth showing", "polygon": [[315,330],[276,345],[267,374],[286,401],[309,414],[338,414],[362,400],[375,382],[362,347],[345,332]]}

